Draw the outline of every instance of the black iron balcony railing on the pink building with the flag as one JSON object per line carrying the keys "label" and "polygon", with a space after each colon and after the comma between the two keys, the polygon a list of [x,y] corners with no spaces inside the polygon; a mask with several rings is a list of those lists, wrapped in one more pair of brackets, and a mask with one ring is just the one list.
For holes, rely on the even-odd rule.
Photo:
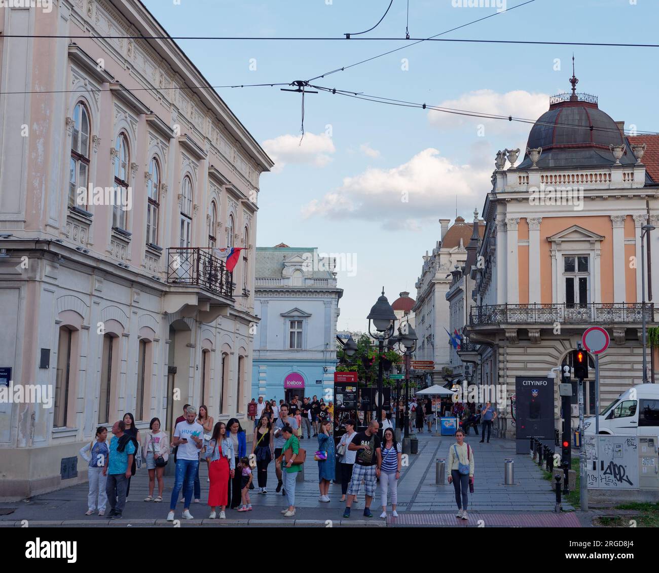
{"label": "black iron balcony railing on the pink building with the flag", "polygon": [[204,287],[225,297],[233,297],[232,273],[210,248],[167,249],[167,282]]}

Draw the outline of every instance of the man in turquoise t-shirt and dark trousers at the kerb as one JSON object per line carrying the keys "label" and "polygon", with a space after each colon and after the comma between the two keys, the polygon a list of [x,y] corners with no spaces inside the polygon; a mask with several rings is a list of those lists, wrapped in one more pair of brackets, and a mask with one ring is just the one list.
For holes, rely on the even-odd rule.
{"label": "man in turquoise t-shirt and dark trousers at the kerb", "polygon": [[107,475],[105,493],[110,504],[110,512],[106,516],[108,519],[120,520],[126,505],[126,488],[136,448],[133,443],[134,438],[124,434],[125,429],[126,425],[123,421],[115,422],[113,425],[109,460],[107,466],[103,467],[103,475]]}

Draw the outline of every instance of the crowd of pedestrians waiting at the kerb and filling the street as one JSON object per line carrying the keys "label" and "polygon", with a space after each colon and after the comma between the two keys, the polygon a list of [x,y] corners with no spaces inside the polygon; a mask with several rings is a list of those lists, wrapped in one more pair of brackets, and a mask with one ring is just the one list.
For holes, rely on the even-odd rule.
{"label": "crowd of pedestrians waiting at the kerb and filling the street", "polygon": [[[415,415],[416,428],[422,432],[424,425],[432,421],[430,400],[408,404]],[[430,414],[428,408],[431,408]],[[448,482],[455,488],[458,507],[457,517],[467,520],[469,491],[473,491],[474,455],[471,446],[465,443],[465,430],[474,427],[478,435],[478,421],[482,420],[482,439],[490,441],[490,427],[496,419],[496,411],[487,402],[484,406],[469,406],[454,413],[460,419],[455,433],[455,444],[448,450]],[[275,464],[277,486],[275,493],[283,495],[286,507],[281,513],[285,517],[295,516],[295,485],[297,474],[304,467],[306,450],[302,447],[306,439],[317,438],[317,445],[310,446],[314,460],[318,463],[318,489],[320,502],[329,502],[332,483],[341,484],[341,502],[345,502],[343,518],[351,516],[353,505],[362,491],[365,494],[364,516],[372,517],[371,505],[379,484],[380,518],[387,517],[387,506],[391,516],[397,517],[397,485],[401,477],[402,447],[395,440],[393,420],[382,411],[382,429],[376,420],[370,421],[362,432],[357,431],[357,422],[349,419],[343,423],[345,433],[335,446],[333,438],[333,404],[324,404],[316,396],[312,400],[299,401],[293,396],[291,403],[283,400],[252,400],[248,404],[248,418],[254,427],[250,455],[247,454],[246,430],[237,418],[225,424],[217,422],[204,405],[197,410],[185,404],[183,415],[175,422],[171,442],[163,431],[161,421],[154,417],[148,431],[140,436],[135,427],[132,413],[126,413],[113,424],[108,442],[106,427],[98,427],[94,440],[80,450],[88,462],[90,516],[98,510],[99,516],[121,519],[130,491],[130,479],[142,464],[148,471],[148,496],[145,502],[163,500],[165,466],[173,461],[174,485],[171,491],[167,521],[175,518],[179,494],[183,503],[181,517],[194,519],[190,505],[201,502],[199,466],[203,461],[208,467],[208,506],[210,519],[226,518],[227,508],[238,512],[252,510],[250,490],[265,495],[268,493],[268,466]],[[474,418],[476,418],[474,420]],[[398,423],[401,422],[399,419]],[[463,430],[465,428],[465,430]],[[382,436],[382,438],[380,437]],[[256,477],[254,477],[254,473]],[[158,483],[158,494],[156,492]],[[105,512],[109,506],[109,512]]]}

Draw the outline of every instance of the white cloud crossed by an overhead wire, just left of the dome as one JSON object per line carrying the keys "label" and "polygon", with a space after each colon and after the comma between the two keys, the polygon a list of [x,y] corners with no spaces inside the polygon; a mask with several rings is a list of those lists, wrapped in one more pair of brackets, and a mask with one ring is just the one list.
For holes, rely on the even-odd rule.
{"label": "white cloud crossed by an overhead wire, just left of the dome", "polygon": [[[496,115],[512,115],[535,121],[549,109],[549,96],[547,94],[529,93],[524,90],[514,90],[499,94],[494,90],[474,90],[461,95],[455,100],[444,100],[437,107],[451,107],[463,111],[478,111]],[[531,124],[519,121],[507,121],[507,119],[488,119],[484,117],[469,117],[443,111],[428,111],[428,121],[434,127],[442,130],[461,129],[473,130],[473,135],[480,135],[479,126],[484,127],[484,136],[524,135],[526,140]],[[501,148],[507,146],[507,142],[501,142]],[[509,146],[509,145],[508,145]]]}

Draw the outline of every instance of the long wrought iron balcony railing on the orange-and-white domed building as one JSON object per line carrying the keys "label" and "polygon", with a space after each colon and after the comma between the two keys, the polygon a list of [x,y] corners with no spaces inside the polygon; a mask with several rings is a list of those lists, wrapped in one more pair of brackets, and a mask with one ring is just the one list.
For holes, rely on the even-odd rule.
{"label": "long wrought iron balcony railing on the orange-and-white domed building", "polygon": [[[654,322],[654,304],[645,303],[645,320]],[[641,324],[643,303],[567,303],[485,305],[473,307],[472,326],[479,324]]]}

